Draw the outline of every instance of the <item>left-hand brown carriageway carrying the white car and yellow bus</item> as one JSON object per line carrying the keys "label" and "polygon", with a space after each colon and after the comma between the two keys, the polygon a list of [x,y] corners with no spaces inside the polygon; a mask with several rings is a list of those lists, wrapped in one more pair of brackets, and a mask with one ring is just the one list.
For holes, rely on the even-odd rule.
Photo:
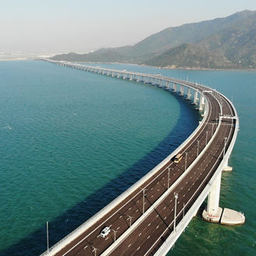
{"label": "left-hand brown carriageway carrying the white car and yellow bus", "polygon": [[[212,108],[211,108],[212,109]],[[208,129],[209,133],[211,133],[212,136],[212,125],[209,125],[208,123],[212,122],[212,120],[207,120],[207,124],[205,125],[206,129]],[[205,129],[204,127],[204,129]],[[210,136],[208,137],[208,140],[210,139]],[[190,145],[184,149],[184,151],[188,151],[188,158],[187,158],[187,167],[190,165],[191,162],[194,161],[194,158],[197,156],[197,140],[206,140],[206,135],[204,133],[197,133],[197,136],[194,138],[193,141],[191,141]],[[199,144],[199,153],[204,148],[204,143]],[[160,170],[160,175],[157,179],[151,179],[148,181],[147,184],[145,184],[144,187],[148,188],[147,197],[145,200],[145,210],[150,207],[150,205],[160,197],[165,190],[167,189],[167,183],[168,183],[168,167],[171,169],[170,172],[172,172],[172,177],[170,177],[170,184],[174,183],[178,177],[184,172],[184,165],[185,165],[185,158],[179,163],[179,165],[169,162],[163,169],[165,169],[165,172],[162,172]],[[155,177],[154,177],[155,178]],[[167,180],[167,181],[166,181]],[[81,248],[83,248],[83,253],[91,253],[93,250],[93,247],[96,247],[99,251],[105,251],[105,248],[108,247],[110,244],[112,244],[114,240],[114,234],[112,233],[111,237],[105,238],[105,240],[102,237],[98,237],[98,234],[100,233],[103,226],[111,226],[112,223],[115,223],[115,226],[111,226],[112,229],[118,231],[116,233],[116,238],[119,237],[127,228],[130,226],[130,219],[129,216],[131,216],[131,212],[133,211],[132,215],[132,222],[134,222],[136,219],[138,219],[142,212],[142,192],[137,191],[137,195],[133,197],[131,195],[130,200],[128,204],[126,204],[126,207],[123,209],[119,209],[119,211],[116,212],[115,215],[113,215],[110,219],[107,221],[105,219],[101,220],[100,222],[96,223],[96,228],[94,229],[93,233],[84,234],[80,237],[79,240],[82,240],[82,242],[79,242],[78,240],[74,241],[72,244],[69,245],[69,247],[66,247],[65,250],[62,250],[59,255],[73,255],[77,254]],[[124,217],[126,216],[126,217]],[[88,230],[89,232],[90,230]],[[107,240],[106,240],[107,239]],[[76,245],[76,247],[74,247]],[[73,248],[74,247],[74,248]],[[73,248],[71,251],[69,251],[71,248]],[[66,253],[67,252],[67,253]]]}

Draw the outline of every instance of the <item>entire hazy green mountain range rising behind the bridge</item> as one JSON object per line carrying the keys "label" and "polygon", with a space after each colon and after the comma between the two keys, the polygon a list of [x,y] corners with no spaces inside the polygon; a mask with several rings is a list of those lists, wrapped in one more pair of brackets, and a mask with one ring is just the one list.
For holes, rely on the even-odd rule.
{"label": "entire hazy green mountain range rising behind the bridge", "polygon": [[168,68],[256,68],[256,12],[169,27],[143,41],[52,59],[77,62],[131,62]]}

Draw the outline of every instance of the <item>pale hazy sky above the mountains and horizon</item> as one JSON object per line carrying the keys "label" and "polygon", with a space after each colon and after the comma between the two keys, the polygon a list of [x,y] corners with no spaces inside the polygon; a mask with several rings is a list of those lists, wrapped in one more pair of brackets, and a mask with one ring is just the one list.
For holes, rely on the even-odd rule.
{"label": "pale hazy sky above the mountains and horizon", "polygon": [[166,27],[244,9],[256,10],[256,0],[0,0],[0,52],[135,44]]}

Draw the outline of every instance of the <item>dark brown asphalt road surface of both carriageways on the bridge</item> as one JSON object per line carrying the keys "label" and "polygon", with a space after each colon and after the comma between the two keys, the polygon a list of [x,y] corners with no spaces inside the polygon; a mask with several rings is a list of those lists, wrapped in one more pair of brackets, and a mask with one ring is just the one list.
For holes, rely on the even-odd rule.
{"label": "dark brown asphalt road surface of both carriageways on the bridge", "polygon": [[[143,213],[143,202],[144,212],[146,212],[168,190],[168,187],[171,187],[179,179],[185,169],[197,158],[197,151],[199,155],[208,141],[215,135],[219,122],[220,106],[218,101],[210,93],[204,95],[208,98],[209,114],[201,129],[180,151],[183,154],[183,159],[179,163],[168,162],[150,180],[144,183],[144,193],[142,189],[135,190],[133,194],[126,197],[119,205],[55,255],[94,256],[102,254],[119,236],[130,229],[130,225],[140,219]],[[233,108],[225,98],[222,98],[222,114],[234,114]],[[158,250],[172,233],[175,201],[176,225],[178,225],[183,219],[183,214],[186,214],[218,168],[222,161],[225,137],[227,138],[226,148],[228,148],[233,137],[234,127],[234,119],[222,119],[215,139],[196,165],[175,187],[169,189],[169,194],[154,209],[149,210],[150,213],[147,218],[141,220],[140,224],[119,244],[116,243],[116,247],[109,255],[153,255]],[[187,155],[187,162],[185,155]],[[178,194],[177,199],[174,197],[175,194]],[[99,234],[105,226],[109,226],[111,232],[103,238]]]}

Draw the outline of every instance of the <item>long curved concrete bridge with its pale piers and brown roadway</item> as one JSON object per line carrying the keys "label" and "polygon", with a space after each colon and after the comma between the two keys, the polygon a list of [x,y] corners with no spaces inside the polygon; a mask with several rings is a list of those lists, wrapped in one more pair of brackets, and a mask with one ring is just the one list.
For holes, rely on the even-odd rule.
{"label": "long curved concrete bridge with its pale piers and brown roadway", "polygon": [[[160,74],[43,60],[162,87],[192,101],[203,119],[194,133],[151,172],[42,255],[165,255],[206,197],[208,204],[202,214],[206,221],[244,223],[244,214],[219,207],[222,171],[231,169],[228,160],[239,130],[236,108],[228,98],[202,84]],[[178,153],[183,158],[174,162]],[[106,226],[110,233],[101,237]]]}

